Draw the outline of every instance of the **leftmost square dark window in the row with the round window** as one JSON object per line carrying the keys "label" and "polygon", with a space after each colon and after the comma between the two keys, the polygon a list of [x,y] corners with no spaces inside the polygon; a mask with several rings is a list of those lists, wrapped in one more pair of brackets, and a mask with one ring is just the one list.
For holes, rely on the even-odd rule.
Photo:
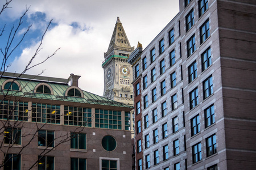
{"label": "leftmost square dark window in the row with the round window", "polygon": [[4,132],[5,144],[21,145],[21,129],[19,128],[6,128]]}

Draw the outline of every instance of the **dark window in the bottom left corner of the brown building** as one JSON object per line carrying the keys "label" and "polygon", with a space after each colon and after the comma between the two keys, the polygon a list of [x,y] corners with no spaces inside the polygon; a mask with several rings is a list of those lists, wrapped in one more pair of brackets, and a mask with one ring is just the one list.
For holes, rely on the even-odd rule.
{"label": "dark window in the bottom left corner of the brown building", "polygon": [[20,170],[20,155],[6,154],[3,169]]}

